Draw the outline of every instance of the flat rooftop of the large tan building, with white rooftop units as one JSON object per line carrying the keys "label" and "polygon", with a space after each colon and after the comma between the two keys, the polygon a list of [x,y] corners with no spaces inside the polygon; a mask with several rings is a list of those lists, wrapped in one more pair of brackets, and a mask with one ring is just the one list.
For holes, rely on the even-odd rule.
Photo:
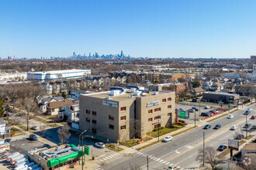
{"label": "flat rooftop of the large tan building, with white rooftop units", "polygon": [[161,93],[174,93],[172,91],[148,91],[147,93],[144,93],[143,91],[132,92],[130,89],[125,89],[126,91],[124,93],[112,96],[111,91],[106,92],[100,92],[100,93],[90,93],[90,94],[82,94],[82,96],[90,96],[90,97],[97,97],[102,98],[106,100],[116,100],[116,101],[122,101],[122,100],[134,100],[135,97],[149,97],[158,95]]}

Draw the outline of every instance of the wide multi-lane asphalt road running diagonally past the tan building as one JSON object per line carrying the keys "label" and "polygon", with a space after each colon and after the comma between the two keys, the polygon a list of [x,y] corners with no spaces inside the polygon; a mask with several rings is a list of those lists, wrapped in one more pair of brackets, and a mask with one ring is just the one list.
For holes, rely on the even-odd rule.
{"label": "wide multi-lane asphalt road running diagonally past the tan building", "polygon": [[[251,115],[256,115],[256,105],[251,106],[252,113],[247,117],[248,123],[255,124],[255,120],[250,120]],[[200,163],[195,161],[199,148],[202,148],[202,133],[205,131],[205,145],[218,148],[220,145],[227,145],[229,138],[233,139],[235,131],[230,131],[232,125],[237,125],[240,131],[245,124],[244,111],[247,109],[241,109],[234,114],[232,119],[222,117],[216,121],[212,121],[209,124],[212,128],[203,130],[202,127],[195,128],[192,131],[185,132],[184,134],[176,136],[172,141],[168,143],[159,143],[153,145],[150,148],[146,148],[143,151],[138,151],[133,155],[127,155],[115,162],[111,162],[107,165],[102,165],[101,169],[131,169],[140,167],[147,169],[147,156],[149,157],[149,169],[164,169],[169,165],[177,165],[180,168],[195,168],[199,167]],[[221,124],[222,128],[219,130],[213,130],[216,124]],[[244,134],[245,132],[242,131]],[[255,133],[255,132],[254,132]]]}

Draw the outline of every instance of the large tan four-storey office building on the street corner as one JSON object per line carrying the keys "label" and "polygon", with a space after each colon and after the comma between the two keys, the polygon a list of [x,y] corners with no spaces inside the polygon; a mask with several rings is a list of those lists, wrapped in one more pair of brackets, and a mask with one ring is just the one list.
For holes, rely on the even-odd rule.
{"label": "large tan four-storey office building on the street corner", "polygon": [[175,92],[111,88],[80,96],[79,126],[111,141],[145,137],[175,121]]}

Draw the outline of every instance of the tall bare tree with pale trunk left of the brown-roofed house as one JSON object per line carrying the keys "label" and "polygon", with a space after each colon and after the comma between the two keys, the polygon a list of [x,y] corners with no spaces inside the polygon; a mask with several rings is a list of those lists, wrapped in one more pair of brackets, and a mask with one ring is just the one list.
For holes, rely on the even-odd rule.
{"label": "tall bare tree with pale trunk left of the brown-roofed house", "polygon": [[38,105],[31,100],[31,98],[26,97],[22,100],[21,108],[23,110],[21,115],[26,121],[26,130],[29,131],[29,121],[31,119],[30,113],[36,112],[38,110]]}

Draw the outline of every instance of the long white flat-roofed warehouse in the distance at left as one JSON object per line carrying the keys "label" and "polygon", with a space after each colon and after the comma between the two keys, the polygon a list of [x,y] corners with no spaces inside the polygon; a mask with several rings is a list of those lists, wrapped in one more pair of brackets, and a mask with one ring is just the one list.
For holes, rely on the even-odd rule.
{"label": "long white flat-roofed warehouse in the distance at left", "polygon": [[75,79],[84,75],[91,74],[91,70],[56,70],[47,72],[28,72],[27,80],[45,81],[45,80],[59,80],[59,79]]}

